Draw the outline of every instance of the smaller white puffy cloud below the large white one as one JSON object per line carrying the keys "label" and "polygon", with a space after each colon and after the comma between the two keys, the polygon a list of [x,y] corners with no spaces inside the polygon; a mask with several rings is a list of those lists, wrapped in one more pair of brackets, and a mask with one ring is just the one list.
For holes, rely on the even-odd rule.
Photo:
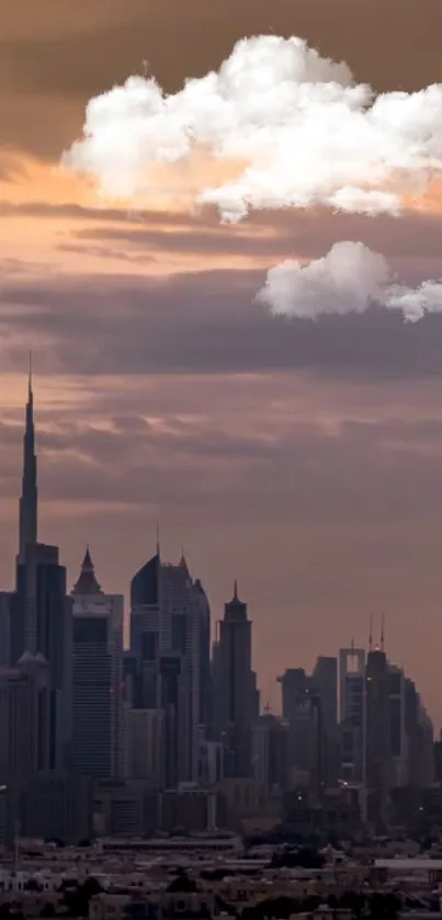
{"label": "smaller white puffy cloud below the large white one", "polygon": [[442,313],[442,281],[400,284],[383,255],[362,242],[343,241],[308,264],[286,260],[270,269],[256,300],[273,316],[304,319],[361,314],[376,303],[416,322],[427,313]]}

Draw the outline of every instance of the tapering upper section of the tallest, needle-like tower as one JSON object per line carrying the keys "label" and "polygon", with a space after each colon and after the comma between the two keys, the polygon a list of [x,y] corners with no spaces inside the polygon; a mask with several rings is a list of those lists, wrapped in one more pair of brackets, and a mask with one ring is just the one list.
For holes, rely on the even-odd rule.
{"label": "tapering upper section of the tallest, needle-like tower", "polygon": [[34,394],[32,388],[32,354],[27,378],[26,424],[23,438],[22,495],[20,498],[19,558],[24,560],[26,547],[37,542],[37,461],[35,456]]}

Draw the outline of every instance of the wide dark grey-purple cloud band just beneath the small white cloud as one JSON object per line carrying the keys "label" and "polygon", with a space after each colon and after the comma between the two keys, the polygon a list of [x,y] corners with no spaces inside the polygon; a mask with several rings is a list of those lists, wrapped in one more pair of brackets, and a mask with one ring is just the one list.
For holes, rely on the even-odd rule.
{"label": "wide dark grey-purple cloud band just beneath the small white cloud", "polygon": [[[442,374],[441,317],[406,323],[399,310],[320,316],[317,322],[257,308],[263,271],[4,277],[0,357],[23,367],[32,340],[39,374],[274,374],[417,382]],[[25,363],[25,362],[24,362]],[[24,367],[25,373],[25,367]]]}

